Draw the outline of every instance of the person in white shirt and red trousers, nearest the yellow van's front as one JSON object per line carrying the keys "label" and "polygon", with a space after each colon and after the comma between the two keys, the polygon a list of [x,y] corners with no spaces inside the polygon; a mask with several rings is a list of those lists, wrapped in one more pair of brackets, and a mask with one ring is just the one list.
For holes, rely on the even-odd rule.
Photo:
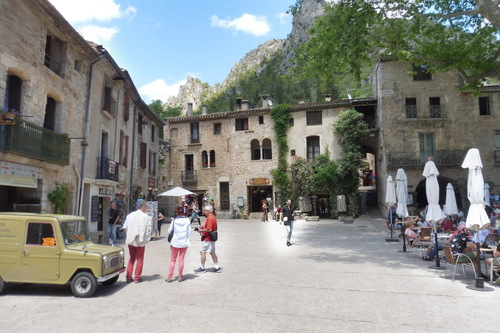
{"label": "person in white shirt and red trousers, nearest the yellow van's front", "polygon": [[[142,201],[139,204],[139,209],[127,215],[123,229],[127,234],[125,244],[128,245],[130,259],[127,264],[127,283],[142,281],[142,267],[144,266],[144,251],[146,244],[151,238],[152,221],[151,217],[146,214],[148,204]],[[135,273],[132,279],[132,273]]]}

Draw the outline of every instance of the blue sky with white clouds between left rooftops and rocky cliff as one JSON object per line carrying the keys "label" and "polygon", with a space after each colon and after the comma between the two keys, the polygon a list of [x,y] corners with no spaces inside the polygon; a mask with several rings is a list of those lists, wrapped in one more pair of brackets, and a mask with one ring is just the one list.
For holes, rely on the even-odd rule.
{"label": "blue sky with white clouds between left rooftops and rocky cliff", "polygon": [[177,95],[187,76],[222,83],[266,40],[286,38],[295,0],[49,0],[128,70],[143,100]]}

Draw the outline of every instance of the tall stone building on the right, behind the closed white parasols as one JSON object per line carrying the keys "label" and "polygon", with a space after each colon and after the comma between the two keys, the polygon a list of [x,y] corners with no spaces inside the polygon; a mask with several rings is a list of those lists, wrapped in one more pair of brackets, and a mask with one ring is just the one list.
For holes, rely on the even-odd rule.
{"label": "tall stone building on the right, behind the closed white parasols", "polygon": [[490,193],[500,194],[500,85],[487,85],[479,94],[462,91],[457,73],[430,74],[420,66],[413,75],[408,64],[385,59],[375,66],[373,78],[380,207],[386,206],[387,176],[394,178],[399,168],[408,177],[410,210],[426,206],[422,172],[428,157],[440,172],[440,204],[451,183],[458,205],[467,207],[468,171],[461,165],[470,148],[481,153]]}

